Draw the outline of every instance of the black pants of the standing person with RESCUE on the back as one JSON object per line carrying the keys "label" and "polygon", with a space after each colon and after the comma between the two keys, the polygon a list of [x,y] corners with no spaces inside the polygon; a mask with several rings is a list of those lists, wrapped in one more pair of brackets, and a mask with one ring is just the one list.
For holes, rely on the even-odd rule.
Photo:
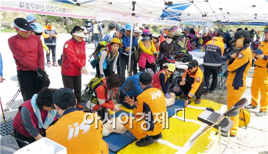
{"label": "black pants of the standing person with RESCUE on the back", "polygon": [[[211,68],[210,66],[204,66],[204,80],[207,87],[207,92],[209,90],[214,91],[217,83],[218,83],[218,74],[219,74],[220,68]],[[212,73],[212,82],[211,87],[210,86],[210,77]]]}

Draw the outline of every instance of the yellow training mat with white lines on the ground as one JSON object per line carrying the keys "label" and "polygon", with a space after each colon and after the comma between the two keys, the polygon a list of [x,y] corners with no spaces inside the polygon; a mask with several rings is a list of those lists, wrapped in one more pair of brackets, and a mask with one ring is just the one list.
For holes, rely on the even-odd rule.
{"label": "yellow training mat with white lines on the ground", "polygon": [[[195,99],[185,108],[185,121],[183,111],[169,119],[169,129],[162,132],[163,138],[147,147],[137,147],[134,141],[117,154],[197,154],[210,152],[213,146],[217,146],[218,136],[215,136],[216,129],[211,128],[207,133],[199,137],[195,142],[190,143],[198,132],[207,125],[197,120],[197,117],[206,109],[212,107],[215,111],[226,111],[226,105],[218,104],[209,100],[201,100],[195,104]],[[115,103],[116,104],[116,103]],[[121,104],[116,104],[127,112],[132,112]]]}

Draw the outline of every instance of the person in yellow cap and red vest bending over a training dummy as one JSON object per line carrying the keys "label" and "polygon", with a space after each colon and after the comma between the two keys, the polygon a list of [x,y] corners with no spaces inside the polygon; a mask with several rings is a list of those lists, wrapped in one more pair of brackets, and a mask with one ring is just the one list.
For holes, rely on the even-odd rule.
{"label": "person in yellow cap and red vest bending over a training dummy", "polygon": [[168,94],[168,90],[170,87],[170,77],[174,73],[176,67],[174,64],[168,64],[164,69],[158,71],[153,75],[153,84],[152,86],[161,89],[165,94],[166,98],[170,98],[170,94]]}

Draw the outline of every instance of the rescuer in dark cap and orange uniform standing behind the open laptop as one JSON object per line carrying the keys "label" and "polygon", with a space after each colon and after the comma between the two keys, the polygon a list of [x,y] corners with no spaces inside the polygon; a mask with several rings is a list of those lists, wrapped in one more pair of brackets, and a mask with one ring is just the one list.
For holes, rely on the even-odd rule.
{"label": "rescuer in dark cap and orange uniform standing behind the open laptop", "polygon": [[[231,58],[227,61],[227,70],[229,71],[227,77],[227,109],[230,109],[237,103],[243,93],[245,92],[246,78],[248,70],[251,67],[252,52],[249,48],[250,37],[246,30],[237,31],[230,43],[235,43],[235,48],[238,49]],[[267,90],[267,89],[266,89]],[[230,129],[230,137],[235,137],[239,125],[239,115],[230,117],[233,125]],[[221,133],[222,136],[227,137],[228,133]]]}

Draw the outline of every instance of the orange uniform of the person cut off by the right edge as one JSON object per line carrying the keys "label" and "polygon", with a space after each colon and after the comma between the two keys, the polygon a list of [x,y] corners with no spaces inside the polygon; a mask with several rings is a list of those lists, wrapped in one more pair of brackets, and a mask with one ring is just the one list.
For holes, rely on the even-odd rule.
{"label": "orange uniform of the person cut off by the right edge", "polygon": [[263,41],[259,49],[264,53],[263,59],[257,59],[251,83],[251,105],[257,106],[261,93],[260,110],[267,112],[268,107],[268,40]]}

